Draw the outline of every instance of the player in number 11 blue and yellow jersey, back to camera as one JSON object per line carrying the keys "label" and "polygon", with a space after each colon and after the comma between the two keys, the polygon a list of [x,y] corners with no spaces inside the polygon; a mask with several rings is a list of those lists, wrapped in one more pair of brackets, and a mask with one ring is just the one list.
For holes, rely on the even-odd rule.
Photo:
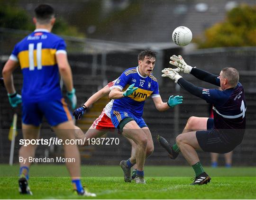
{"label": "player in number 11 blue and yellow jersey, back to camera", "polygon": [[[37,139],[43,116],[53,127],[56,135],[63,141],[75,139],[72,115],[62,97],[59,73],[67,89],[67,97],[76,106],[75,89],[71,68],[68,64],[64,40],[51,33],[55,23],[54,9],[49,5],[39,5],[35,9],[36,30],[15,45],[2,74],[8,91],[9,102],[17,107],[22,101],[22,132],[24,139]],[[12,73],[20,65],[23,73],[22,97],[17,94]],[[32,194],[28,187],[28,171],[34,157],[36,145],[22,145],[19,157],[27,159],[20,163],[19,191]],[[80,154],[76,145],[64,145],[66,158],[75,192],[83,196],[95,196],[85,191],[80,181]]]}

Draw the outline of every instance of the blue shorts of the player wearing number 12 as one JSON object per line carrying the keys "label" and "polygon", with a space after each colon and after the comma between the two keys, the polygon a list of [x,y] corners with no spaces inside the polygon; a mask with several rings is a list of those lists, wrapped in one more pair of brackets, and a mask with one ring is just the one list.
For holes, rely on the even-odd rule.
{"label": "blue shorts of the player wearing number 12", "polygon": [[111,110],[111,121],[116,128],[119,128],[119,123],[125,118],[133,118],[140,128],[147,127],[143,118],[137,118],[129,111]]}

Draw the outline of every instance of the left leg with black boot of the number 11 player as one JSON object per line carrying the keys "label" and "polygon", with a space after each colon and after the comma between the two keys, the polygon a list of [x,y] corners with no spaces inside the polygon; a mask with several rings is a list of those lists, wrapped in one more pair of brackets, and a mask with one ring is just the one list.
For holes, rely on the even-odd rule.
{"label": "left leg with black boot of the number 11 player", "polygon": [[[33,125],[22,124],[22,134],[24,139],[32,140],[38,139],[40,133],[40,127],[35,127]],[[31,162],[29,157],[34,158],[36,153],[37,145],[22,145],[19,149],[18,156],[23,158],[23,162],[19,163],[20,172],[19,172],[19,192],[22,194],[32,194],[30,188],[28,187],[28,171]]]}

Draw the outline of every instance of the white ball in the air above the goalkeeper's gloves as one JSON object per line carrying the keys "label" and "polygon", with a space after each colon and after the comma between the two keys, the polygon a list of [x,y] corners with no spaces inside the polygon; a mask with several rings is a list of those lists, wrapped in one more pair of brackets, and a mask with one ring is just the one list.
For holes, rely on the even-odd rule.
{"label": "white ball in the air above the goalkeeper's gloves", "polygon": [[176,27],[173,32],[173,41],[176,45],[185,46],[192,40],[192,32],[188,27]]}

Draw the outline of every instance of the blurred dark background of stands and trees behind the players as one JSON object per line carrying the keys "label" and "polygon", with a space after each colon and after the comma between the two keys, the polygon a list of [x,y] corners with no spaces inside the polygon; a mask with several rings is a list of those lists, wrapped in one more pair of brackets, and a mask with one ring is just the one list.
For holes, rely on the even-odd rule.
{"label": "blurred dark background of stands and trees behind the players", "polygon": [[[78,106],[108,82],[115,80],[127,68],[137,66],[137,54],[146,48],[157,52],[154,76],[158,79],[163,101],[170,95],[182,95],[183,104],[158,112],[152,100],[147,100],[143,117],[151,130],[155,152],[147,160],[150,165],[187,165],[183,156],[175,162],[157,144],[157,134],[170,141],[182,132],[191,116],[209,117],[210,105],[190,95],[169,79],[161,70],[169,67],[171,55],[183,55],[187,64],[219,74],[232,66],[240,73],[247,100],[247,131],[242,144],[233,154],[234,166],[255,166],[256,143],[256,1],[255,0],[1,0],[0,1],[0,69],[8,60],[14,45],[34,30],[34,9],[41,3],[55,8],[56,24],[53,33],[61,35],[67,44],[68,58],[73,71]],[[189,27],[192,43],[181,47],[172,41],[178,26]],[[183,76],[195,85],[215,88],[193,76]],[[14,73],[18,92],[22,88],[20,69]],[[63,90],[65,94],[65,89]],[[95,103],[76,125],[86,131],[109,102],[104,97]],[[5,89],[0,88],[0,160],[9,162],[11,142],[8,139],[13,113],[18,112],[21,127],[21,108],[13,110]],[[44,121],[41,137],[54,136]],[[119,145],[80,147],[82,164],[118,165],[130,155],[128,141],[117,133]],[[18,163],[16,137],[14,163]],[[62,155],[60,146],[39,145],[37,157]],[[210,165],[210,154],[199,153],[201,163]],[[219,165],[224,159],[219,160]]]}

